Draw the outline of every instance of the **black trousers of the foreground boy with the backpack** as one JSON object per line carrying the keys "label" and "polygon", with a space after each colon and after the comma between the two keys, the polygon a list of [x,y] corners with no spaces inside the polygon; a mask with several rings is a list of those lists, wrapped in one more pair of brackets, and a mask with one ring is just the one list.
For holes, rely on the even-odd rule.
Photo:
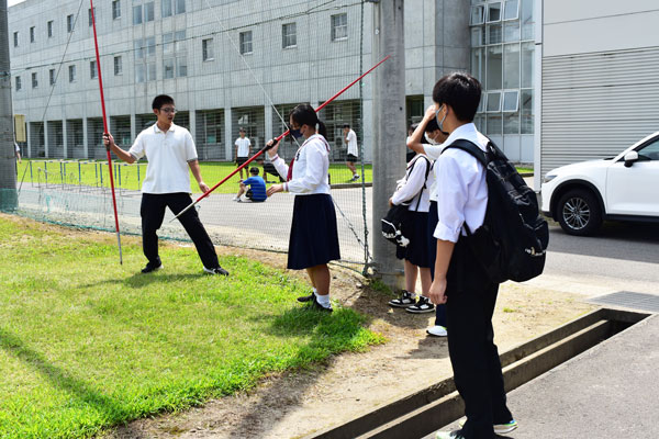
{"label": "black trousers of the foreground boy with the backpack", "polygon": [[465,401],[467,439],[494,438],[493,424],[509,423],[492,314],[499,284],[492,283],[460,236],[447,273],[448,352],[454,380]]}

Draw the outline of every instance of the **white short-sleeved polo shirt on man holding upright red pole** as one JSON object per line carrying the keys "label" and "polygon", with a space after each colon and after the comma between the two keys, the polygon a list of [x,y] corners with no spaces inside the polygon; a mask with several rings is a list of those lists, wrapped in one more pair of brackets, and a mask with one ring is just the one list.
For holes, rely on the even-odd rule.
{"label": "white short-sleeved polo shirt on man holding upright red pole", "polygon": [[197,160],[197,148],[188,130],[171,124],[164,133],[155,123],[137,135],[129,154],[148,160],[142,193],[190,193],[188,162]]}

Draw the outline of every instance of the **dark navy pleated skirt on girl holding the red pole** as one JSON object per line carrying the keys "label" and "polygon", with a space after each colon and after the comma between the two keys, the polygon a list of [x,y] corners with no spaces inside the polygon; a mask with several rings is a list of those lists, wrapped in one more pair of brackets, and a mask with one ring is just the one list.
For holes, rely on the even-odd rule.
{"label": "dark navy pleated skirt on girl holding the red pole", "polygon": [[295,195],[288,268],[302,270],[340,259],[332,195]]}

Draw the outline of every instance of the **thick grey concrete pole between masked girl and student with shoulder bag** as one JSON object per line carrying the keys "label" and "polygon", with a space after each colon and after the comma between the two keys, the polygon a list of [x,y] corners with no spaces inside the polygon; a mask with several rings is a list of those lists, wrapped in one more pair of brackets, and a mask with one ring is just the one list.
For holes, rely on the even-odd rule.
{"label": "thick grey concrete pole between masked girl and student with shoulder bag", "polygon": [[376,275],[393,288],[403,286],[403,264],[394,246],[379,233],[395,182],[405,171],[405,44],[403,0],[380,0],[375,10],[373,54],[391,59],[377,70],[373,93],[373,262]]}

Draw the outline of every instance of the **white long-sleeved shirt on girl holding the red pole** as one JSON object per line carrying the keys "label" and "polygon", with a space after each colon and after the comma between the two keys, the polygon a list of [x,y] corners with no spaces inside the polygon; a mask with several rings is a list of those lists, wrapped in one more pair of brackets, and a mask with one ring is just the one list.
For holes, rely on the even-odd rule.
{"label": "white long-sleeved shirt on girl holding the red pole", "polygon": [[[272,165],[282,178],[288,176],[288,165],[281,157],[275,156]],[[295,153],[293,175],[284,183],[284,190],[297,195],[330,193],[330,144],[325,137],[314,134]]]}

